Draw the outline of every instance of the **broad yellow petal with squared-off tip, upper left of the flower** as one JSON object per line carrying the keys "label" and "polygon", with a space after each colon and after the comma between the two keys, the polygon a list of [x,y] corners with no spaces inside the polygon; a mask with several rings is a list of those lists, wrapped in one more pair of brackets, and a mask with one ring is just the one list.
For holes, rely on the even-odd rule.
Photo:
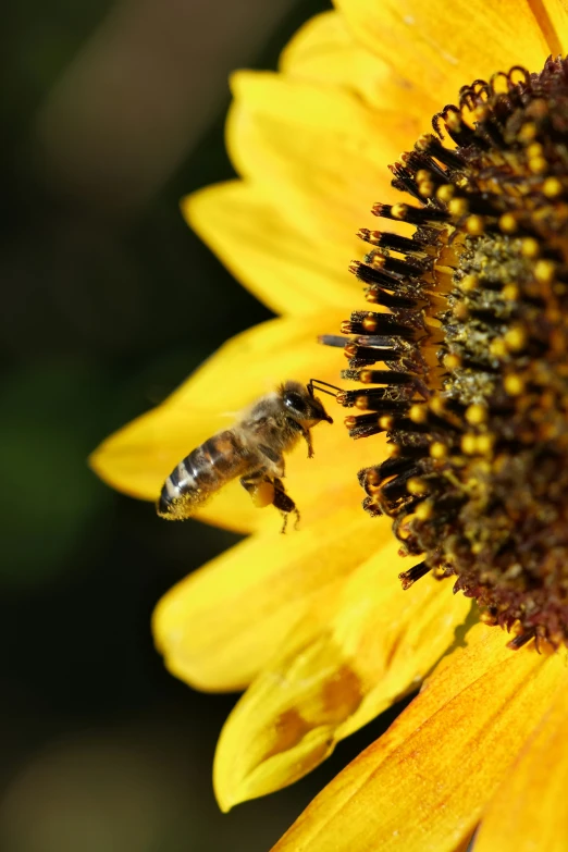
{"label": "broad yellow petal with squared-off tip, upper left of the flower", "polygon": [[235,168],[307,234],[346,245],[370,224],[361,217],[375,200],[397,195],[386,164],[417,126],[395,104],[372,110],[345,89],[268,72],[238,72],[232,88],[226,135]]}

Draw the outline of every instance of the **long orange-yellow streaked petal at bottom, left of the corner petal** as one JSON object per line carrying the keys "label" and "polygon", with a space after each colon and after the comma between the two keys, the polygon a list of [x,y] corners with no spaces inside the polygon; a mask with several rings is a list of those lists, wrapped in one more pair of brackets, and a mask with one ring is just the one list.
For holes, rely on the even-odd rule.
{"label": "long orange-yellow streaked petal at bottom, left of the corner petal", "polygon": [[566,655],[508,651],[479,626],[387,733],[318,795],[277,852],[453,852],[565,677]]}

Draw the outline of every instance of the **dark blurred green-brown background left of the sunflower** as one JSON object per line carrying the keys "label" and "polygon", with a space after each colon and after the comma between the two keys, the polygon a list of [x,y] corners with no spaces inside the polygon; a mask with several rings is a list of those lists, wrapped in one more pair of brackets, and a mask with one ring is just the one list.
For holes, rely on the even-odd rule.
{"label": "dark blurred green-brown background left of the sunflower", "polygon": [[169,676],[150,614],[237,536],[163,524],[86,465],[225,338],[269,317],[178,201],[232,175],[229,72],[275,67],[329,5],[21,0],[4,13],[3,852],[261,852],[385,725],[295,787],[222,815],[211,765],[237,696]]}

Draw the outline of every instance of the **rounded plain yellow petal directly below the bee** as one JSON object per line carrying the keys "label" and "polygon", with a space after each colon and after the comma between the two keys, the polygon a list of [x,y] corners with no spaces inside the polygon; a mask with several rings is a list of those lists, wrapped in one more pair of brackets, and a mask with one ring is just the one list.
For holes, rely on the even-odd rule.
{"label": "rounded plain yellow petal directly below the bee", "polygon": [[360,508],[308,518],[286,535],[256,533],[160,601],[153,632],[165,665],[198,689],[243,689],[385,535],[390,529]]}

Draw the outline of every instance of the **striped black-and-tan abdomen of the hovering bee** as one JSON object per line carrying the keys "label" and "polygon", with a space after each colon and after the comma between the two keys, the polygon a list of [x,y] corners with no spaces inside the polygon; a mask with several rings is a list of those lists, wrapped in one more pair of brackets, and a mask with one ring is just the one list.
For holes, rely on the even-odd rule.
{"label": "striped black-and-tan abdomen of the hovering bee", "polygon": [[250,468],[232,429],[219,432],[192,450],[164,482],[158,515],[171,520],[189,518],[200,503]]}

